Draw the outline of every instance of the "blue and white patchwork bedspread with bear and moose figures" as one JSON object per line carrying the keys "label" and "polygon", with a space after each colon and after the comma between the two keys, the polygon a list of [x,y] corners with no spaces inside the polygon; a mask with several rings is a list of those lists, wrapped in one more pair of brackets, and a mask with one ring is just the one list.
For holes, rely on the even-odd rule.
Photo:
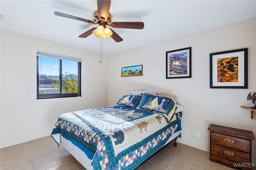
{"label": "blue and white patchwork bedspread with bear and moose figures", "polygon": [[181,112],[173,113],[168,120],[159,113],[118,105],[75,111],[59,117],[52,137],[60,142],[61,134],[78,146],[94,170],[131,170],[181,130],[181,117]]}

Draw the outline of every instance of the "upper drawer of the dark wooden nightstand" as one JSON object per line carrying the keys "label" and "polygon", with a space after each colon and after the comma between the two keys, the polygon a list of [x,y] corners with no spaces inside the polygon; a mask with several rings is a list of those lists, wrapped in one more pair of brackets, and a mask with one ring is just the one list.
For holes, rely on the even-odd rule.
{"label": "upper drawer of the dark wooden nightstand", "polygon": [[250,152],[250,140],[211,132],[211,143]]}

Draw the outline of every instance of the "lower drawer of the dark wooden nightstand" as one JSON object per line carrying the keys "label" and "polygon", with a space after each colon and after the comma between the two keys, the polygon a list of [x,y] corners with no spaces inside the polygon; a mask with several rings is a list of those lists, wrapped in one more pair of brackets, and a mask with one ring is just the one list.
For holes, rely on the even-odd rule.
{"label": "lower drawer of the dark wooden nightstand", "polygon": [[210,154],[238,163],[250,163],[250,153],[211,144]]}

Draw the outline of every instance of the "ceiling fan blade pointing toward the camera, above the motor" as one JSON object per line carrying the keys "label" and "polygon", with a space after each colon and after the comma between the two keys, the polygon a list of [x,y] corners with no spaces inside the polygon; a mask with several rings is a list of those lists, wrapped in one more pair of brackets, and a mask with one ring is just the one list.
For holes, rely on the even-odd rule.
{"label": "ceiling fan blade pointing toward the camera, above the motor", "polygon": [[111,0],[97,0],[98,18],[100,21],[107,22]]}

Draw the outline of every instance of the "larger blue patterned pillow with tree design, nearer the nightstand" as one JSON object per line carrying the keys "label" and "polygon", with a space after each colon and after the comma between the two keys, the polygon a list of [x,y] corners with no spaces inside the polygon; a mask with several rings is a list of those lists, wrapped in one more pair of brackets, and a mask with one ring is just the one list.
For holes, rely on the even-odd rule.
{"label": "larger blue patterned pillow with tree design, nearer the nightstand", "polygon": [[177,107],[177,103],[174,97],[164,97],[144,93],[138,109],[147,111],[154,111],[165,115],[173,115]]}

